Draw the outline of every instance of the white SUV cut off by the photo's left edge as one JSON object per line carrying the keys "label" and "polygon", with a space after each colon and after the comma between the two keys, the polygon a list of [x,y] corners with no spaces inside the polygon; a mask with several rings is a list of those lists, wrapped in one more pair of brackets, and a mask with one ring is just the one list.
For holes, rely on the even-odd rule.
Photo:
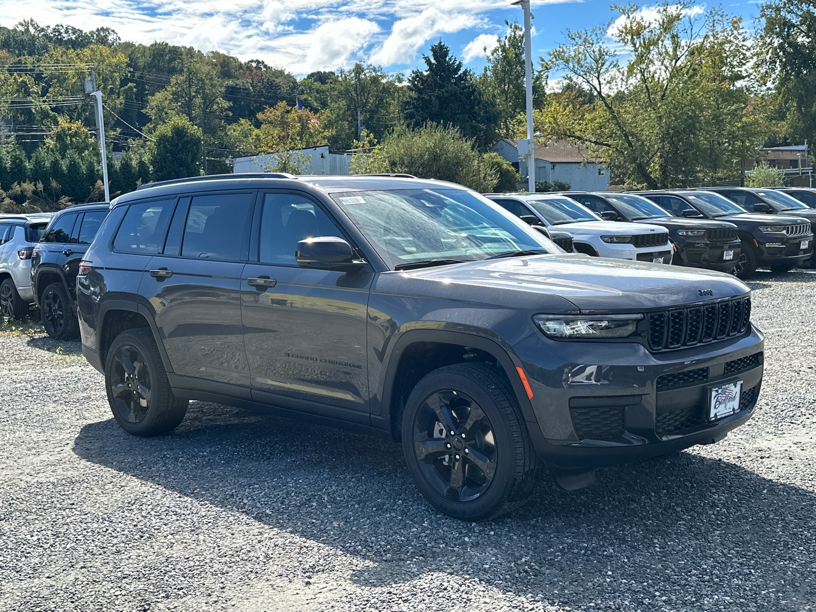
{"label": "white SUV cut off by the photo's left edge", "polygon": [[22,318],[34,301],[31,255],[51,213],[0,215],[0,317]]}

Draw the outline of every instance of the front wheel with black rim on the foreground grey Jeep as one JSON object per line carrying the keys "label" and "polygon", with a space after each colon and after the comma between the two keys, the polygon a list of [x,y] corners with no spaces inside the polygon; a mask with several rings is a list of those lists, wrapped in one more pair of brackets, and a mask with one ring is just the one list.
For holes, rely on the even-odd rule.
{"label": "front wheel with black rim on the foreground grey Jeep", "polygon": [[463,521],[512,511],[543,473],[515,393],[486,364],[442,367],[419,381],[402,417],[402,450],[425,499]]}

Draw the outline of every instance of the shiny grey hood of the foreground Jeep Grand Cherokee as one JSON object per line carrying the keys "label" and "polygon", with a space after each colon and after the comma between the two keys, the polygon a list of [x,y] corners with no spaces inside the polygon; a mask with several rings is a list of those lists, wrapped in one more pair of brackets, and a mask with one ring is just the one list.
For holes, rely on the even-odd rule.
{"label": "shiny grey hood of the foreground Jeep Grand Cherokee", "polygon": [[[582,313],[637,313],[749,290],[728,274],[570,253],[488,259],[406,274],[438,282],[434,292],[439,295],[468,295],[474,302],[521,308],[535,308],[545,295],[557,295]],[[481,295],[478,288],[484,290]]]}

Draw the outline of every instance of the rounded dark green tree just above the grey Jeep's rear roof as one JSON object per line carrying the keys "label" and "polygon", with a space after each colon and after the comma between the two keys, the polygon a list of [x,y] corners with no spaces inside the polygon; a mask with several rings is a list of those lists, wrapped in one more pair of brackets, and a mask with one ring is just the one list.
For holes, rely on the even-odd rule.
{"label": "rounded dark green tree just above the grey Jeep's rear roof", "polygon": [[150,163],[156,180],[202,174],[202,132],[184,116],[171,118],[153,132]]}

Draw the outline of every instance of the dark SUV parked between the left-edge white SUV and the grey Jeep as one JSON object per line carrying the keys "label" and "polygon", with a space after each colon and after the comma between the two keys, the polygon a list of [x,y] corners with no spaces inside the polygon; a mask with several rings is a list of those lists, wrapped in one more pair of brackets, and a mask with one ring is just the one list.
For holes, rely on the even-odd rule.
{"label": "dark SUV parked between the left-edge white SUV and the grey Jeep", "polygon": [[108,215],[108,202],[69,206],[57,212],[31,257],[31,288],[42,326],[51,338],[79,333],[76,285],[79,262]]}

